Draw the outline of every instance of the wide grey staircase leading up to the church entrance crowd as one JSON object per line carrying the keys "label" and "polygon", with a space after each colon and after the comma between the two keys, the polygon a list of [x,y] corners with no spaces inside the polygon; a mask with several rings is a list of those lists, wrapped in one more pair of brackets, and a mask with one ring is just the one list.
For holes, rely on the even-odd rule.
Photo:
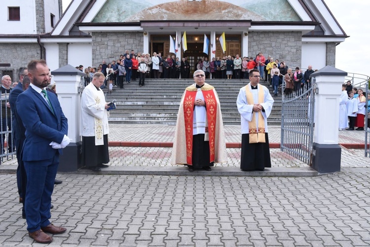
{"label": "wide grey staircase leading up to the church entrance crowd", "polygon": [[[219,94],[223,124],[239,125],[240,115],[236,108],[239,89],[246,80],[206,80]],[[109,122],[114,124],[168,124],[175,125],[181,96],[191,79],[147,79],[145,86],[139,87],[139,79],[124,88],[113,87],[110,94],[105,88],[107,101],[116,99],[117,109],[111,111]],[[268,86],[265,82],[261,84]],[[273,90],[269,87],[271,95]],[[274,97],[275,103],[268,118],[269,125],[281,124],[281,94]]]}

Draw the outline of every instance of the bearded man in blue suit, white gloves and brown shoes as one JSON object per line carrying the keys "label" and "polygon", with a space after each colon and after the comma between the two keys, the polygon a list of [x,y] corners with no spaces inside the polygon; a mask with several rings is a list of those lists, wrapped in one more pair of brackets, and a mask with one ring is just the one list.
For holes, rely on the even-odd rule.
{"label": "bearded man in blue suit, white gloves and brown shoes", "polygon": [[46,233],[61,234],[67,230],[54,226],[49,219],[59,155],[70,138],[58,98],[44,89],[49,80],[45,60],[32,60],[27,69],[30,87],[16,101],[17,113],[26,128],[22,159],[27,174],[27,230],[36,242],[47,244],[53,238]]}

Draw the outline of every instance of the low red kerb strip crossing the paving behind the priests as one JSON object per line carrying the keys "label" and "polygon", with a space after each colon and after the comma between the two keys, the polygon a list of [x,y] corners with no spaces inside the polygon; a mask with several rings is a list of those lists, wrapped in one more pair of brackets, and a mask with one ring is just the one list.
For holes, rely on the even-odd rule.
{"label": "low red kerb strip crossing the paving behind the priests", "polygon": [[[154,141],[110,141],[110,147],[157,147],[172,148],[173,142],[154,142]],[[339,143],[340,146],[347,149],[365,149],[365,143]],[[269,143],[270,148],[280,148],[280,143]],[[369,148],[370,144],[368,144]],[[241,142],[227,142],[226,148],[241,148]]]}

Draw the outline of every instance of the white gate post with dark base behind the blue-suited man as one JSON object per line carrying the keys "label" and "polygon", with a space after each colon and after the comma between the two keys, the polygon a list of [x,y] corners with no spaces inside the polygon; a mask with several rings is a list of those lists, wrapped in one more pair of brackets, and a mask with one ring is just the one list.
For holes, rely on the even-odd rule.
{"label": "white gate post with dark base behind the blue-suited man", "polygon": [[82,141],[79,134],[82,81],[85,75],[72,65],[51,72],[56,84],[58,100],[68,119],[68,137],[71,143],[63,149],[58,171],[76,171],[81,167]]}

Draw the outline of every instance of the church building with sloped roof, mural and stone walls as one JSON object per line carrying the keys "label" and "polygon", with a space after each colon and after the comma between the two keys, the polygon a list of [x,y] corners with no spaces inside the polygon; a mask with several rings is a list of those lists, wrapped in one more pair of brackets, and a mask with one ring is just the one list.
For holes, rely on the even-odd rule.
{"label": "church building with sloped roof, mural and stone walls", "polygon": [[262,52],[289,67],[321,69],[335,66],[335,47],[348,37],[324,0],[72,0],[63,14],[61,0],[3,6],[0,73],[13,81],[31,59],[45,59],[51,70],[67,64],[97,67],[126,50],[174,55],[171,42],[176,56],[190,63],[203,56]]}

